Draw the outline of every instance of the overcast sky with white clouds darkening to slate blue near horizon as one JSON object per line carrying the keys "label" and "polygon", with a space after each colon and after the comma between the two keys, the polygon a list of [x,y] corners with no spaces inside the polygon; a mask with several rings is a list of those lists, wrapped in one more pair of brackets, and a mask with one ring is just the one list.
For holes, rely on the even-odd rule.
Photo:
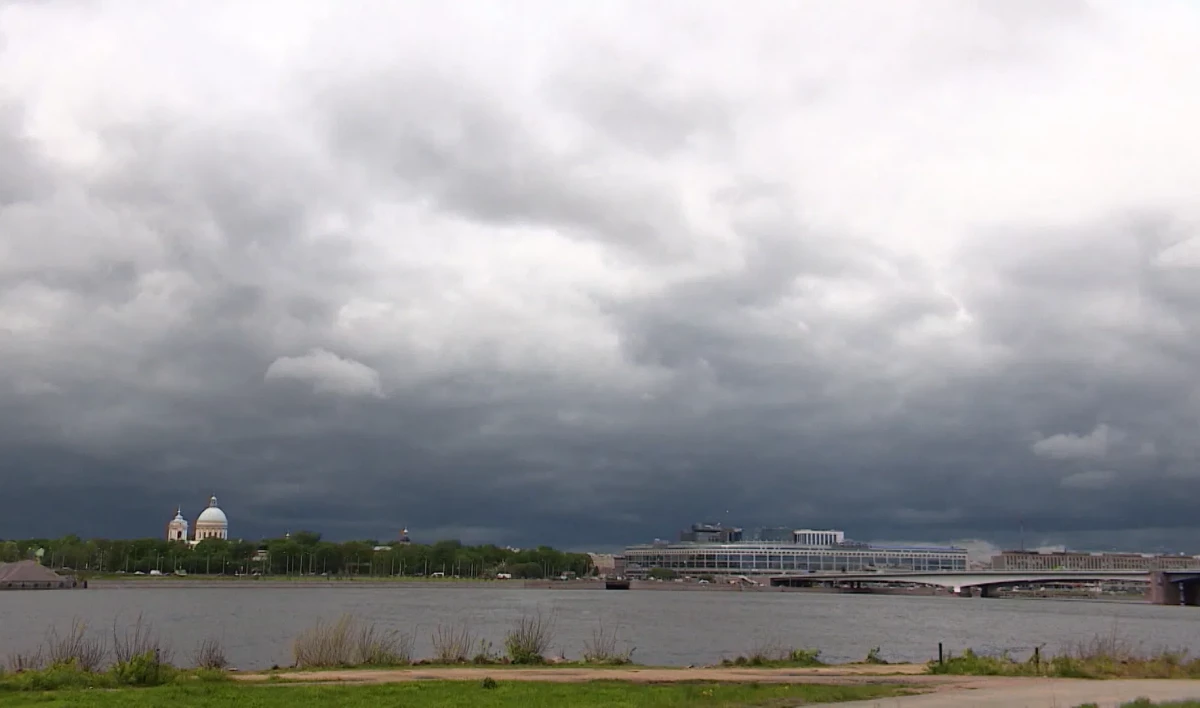
{"label": "overcast sky with white clouds darkening to slate blue near horizon", "polygon": [[1200,552],[1198,34],[0,0],[0,538]]}

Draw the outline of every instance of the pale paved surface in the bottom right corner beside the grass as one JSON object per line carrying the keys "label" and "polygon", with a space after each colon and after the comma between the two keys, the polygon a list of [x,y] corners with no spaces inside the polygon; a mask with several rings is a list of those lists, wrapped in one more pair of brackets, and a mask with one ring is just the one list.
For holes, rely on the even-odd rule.
{"label": "pale paved surface in the bottom right corner beside the grass", "polygon": [[1096,703],[1100,708],[1115,708],[1136,698],[1200,698],[1200,680],[990,678],[972,688],[942,686],[922,696],[835,704],[839,708],[1073,708]]}

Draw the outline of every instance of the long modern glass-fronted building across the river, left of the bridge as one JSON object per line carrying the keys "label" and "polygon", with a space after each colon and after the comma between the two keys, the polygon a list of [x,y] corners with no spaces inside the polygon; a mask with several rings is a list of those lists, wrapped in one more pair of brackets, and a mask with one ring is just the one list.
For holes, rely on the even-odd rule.
{"label": "long modern glass-fronted building across the river, left of the bridge", "polygon": [[[841,532],[828,532],[844,539]],[[806,545],[828,536],[794,534],[794,542],[654,544],[625,548],[625,575],[661,568],[680,575],[799,575],[806,572],[966,570],[967,552],[950,546],[871,546],[852,541]]]}

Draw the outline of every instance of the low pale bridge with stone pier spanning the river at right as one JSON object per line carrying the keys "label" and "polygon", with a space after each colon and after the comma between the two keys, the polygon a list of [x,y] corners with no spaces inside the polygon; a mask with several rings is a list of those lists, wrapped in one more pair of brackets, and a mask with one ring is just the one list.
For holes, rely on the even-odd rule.
{"label": "low pale bridge with stone pier spanning the river at right", "polygon": [[995,588],[1030,583],[1074,583],[1132,581],[1150,583],[1147,598],[1156,605],[1200,605],[1200,569],[1181,571],[1145,570],[946,570],[896,572],[811,572],[770,578],[773,587],[806,587],[828,583],[912,583],[947,588],[960,595],[986,598]]}

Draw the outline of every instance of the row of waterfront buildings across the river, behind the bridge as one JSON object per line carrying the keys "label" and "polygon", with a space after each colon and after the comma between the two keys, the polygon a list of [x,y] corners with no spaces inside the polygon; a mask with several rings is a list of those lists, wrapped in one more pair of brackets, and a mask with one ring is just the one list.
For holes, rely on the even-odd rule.
{"label": "row of waterfront buildings across the river, behind the bridge", "polygon": [[[1200,557],[1154,553],[1003,551],[982,565],[991,570],[1200,570]],[[980,565],[974,565],[980,568]],[[862,544],[835,529],[761,529],[692,524],[678,542],[630,546],[612,570],[644,578],[662,569],[684,576],[797,575],[806,572],[966,571],[967,551],[954,546]]]}

